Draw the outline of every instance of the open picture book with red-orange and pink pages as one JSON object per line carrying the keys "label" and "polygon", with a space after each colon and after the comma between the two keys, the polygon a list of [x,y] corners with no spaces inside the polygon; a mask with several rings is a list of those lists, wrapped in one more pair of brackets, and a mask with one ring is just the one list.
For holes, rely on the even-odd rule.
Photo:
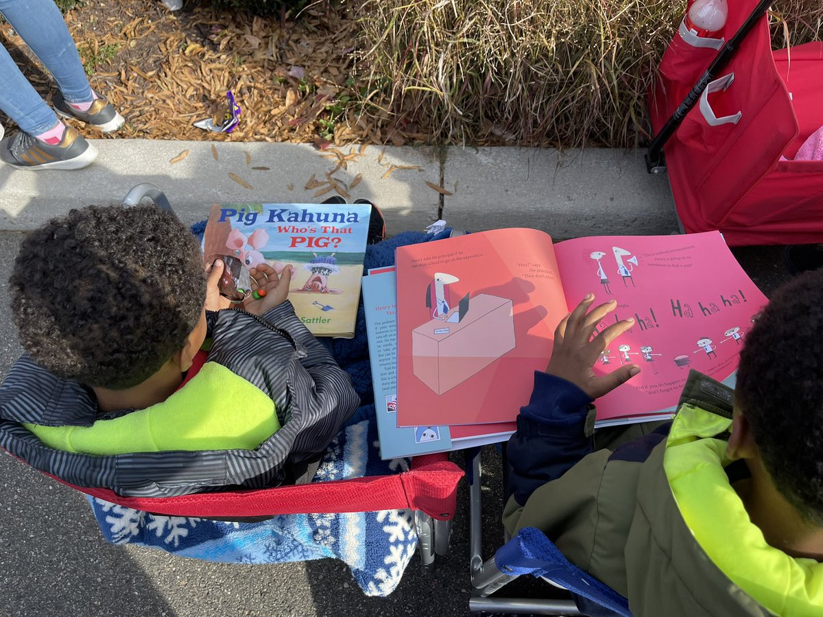
{"label": "open picture book with red-orange and pink pages", "polygon": [[690,369],[723,381],[765,295],[718,232],[595,236],[491,230],[397,249],[399,427],[513,421],[557,324],[593,292],[635,325],[595,373],[641,372],[596,401],[597,426],[671,415]]}

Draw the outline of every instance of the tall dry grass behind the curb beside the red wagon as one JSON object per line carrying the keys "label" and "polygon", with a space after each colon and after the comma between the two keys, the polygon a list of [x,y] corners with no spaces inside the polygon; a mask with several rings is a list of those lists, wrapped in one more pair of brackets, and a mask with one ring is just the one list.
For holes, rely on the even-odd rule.
{"label": "tall dry grass behind the curb beside the red wagon", "polygon": [[[792,44],[819,38],[819,0],[776,4],[776,46],[786,32]],[[635,146],[648,137],[646,92],[683,7],[365,0],[360,71],[367,64],[373,109],[434,142]]]}

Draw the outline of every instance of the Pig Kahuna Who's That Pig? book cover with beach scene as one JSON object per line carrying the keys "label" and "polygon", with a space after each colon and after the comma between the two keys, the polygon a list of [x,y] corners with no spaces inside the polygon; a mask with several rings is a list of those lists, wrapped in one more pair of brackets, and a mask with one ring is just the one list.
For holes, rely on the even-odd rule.
{"label": "Pig Kahuna Who's That Pig? book cover with beach scene", "polygon": [[[289,300],[315,336],[354,336],[363,276],[368,204],[216,204],[203,234],[203,257],[230,260],[239,298],[250,267],[293,267]],[[244,289],[245,288],[245,289]]]}

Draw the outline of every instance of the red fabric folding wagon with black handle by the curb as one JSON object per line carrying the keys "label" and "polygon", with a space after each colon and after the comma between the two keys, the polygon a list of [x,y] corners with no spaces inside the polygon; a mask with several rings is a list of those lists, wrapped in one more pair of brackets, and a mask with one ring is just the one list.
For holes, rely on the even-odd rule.
{"label": "red fabric folding wagon with black handle by the curb", "polygon": [[823,160],[793,157],[823,126],[823,43],[772,51],[768,5],[728,2],[719,51],[675,35],[649,92],[658,137],[647,165],[667,166],[687,232],[720,230],[731,245],[820,243]]}

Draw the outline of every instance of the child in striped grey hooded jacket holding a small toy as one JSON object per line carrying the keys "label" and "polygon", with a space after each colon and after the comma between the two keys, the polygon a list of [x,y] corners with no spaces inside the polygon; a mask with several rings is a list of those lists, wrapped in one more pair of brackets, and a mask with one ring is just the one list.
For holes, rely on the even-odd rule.
{"label": "child in striped grey hooded jacket holding a small toy", "polygon": [[257,293],[234,309],[224,267],[204,272],[197,239],[156,206],[89,206],[29,234],[0,446],[123,495],[311,480],[360,399],[286,299],[291,268],[253,268]]}

